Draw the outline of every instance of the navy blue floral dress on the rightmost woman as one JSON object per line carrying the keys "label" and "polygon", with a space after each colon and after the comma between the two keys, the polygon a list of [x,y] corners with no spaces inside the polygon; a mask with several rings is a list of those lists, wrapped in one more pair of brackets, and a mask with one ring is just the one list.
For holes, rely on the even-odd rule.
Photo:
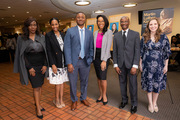
{"label": "navy blue floral dress on the rightmost woman", "polygon": [[147,92],[159,93],[166,89],[167,74],[163,74],[164,62],[171,54],[167,36],[162,34],[160,40],[154,43],[141,40],[142,70],[141,85]]}

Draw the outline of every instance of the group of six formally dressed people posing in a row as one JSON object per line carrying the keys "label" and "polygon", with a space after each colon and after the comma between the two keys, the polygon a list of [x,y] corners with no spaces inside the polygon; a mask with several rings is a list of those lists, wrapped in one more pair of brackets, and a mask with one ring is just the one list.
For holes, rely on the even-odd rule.
{"label": "group of six formally dressed people posing in a row", "polygon": [[166,88],[168,57],[171,53],[166,35],[161,33],[159,22],[151,19],[140,42],[138,32],[129,29],[130,20],[123,16],[120,19],[121,31],[108,29],[109,21],[105,15],[97,16],[98,30],[94,32],[85,28],[86,15],[76,14],[77,26],[69,28],[66,35],[59,31],[59,20],[50,19],[52,31],[45,37],[39,32],[35,18],[27,18],[24,22],[23,35],[18,37],[14,72],[20,73],[22,84],[31,82],[36,113],[43,118],[45,109],[40,104],[41,89],[44,77],[49,76],[50,84],[55,85],[57,108],[65,106],[63,102],[63,83],[70,82],[71,110],[77,109],[77,81],[80,78],[80,101],[90,106],[87,98],[88,78],[93,63],[99,97],[96,102],[108,103],[107,69],[111,57],[110,49],[113,41],[114,68],[119,76],[122,101],[119,108],[128,104],[127,82],[131,98],[131,113],[137,111],[137,69],[142,72],[142,89],[147,91],[148,110],[158,112],[157,98],[159,92]]}

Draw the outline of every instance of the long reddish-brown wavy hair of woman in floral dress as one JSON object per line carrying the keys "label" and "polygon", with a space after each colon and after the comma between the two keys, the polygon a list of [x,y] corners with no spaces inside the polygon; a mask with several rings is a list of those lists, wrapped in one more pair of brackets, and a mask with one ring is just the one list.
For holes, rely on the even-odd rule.
{"label": "long reddish-brown wavy hair of woman in floral dress", "polygon": [[147,24],[147,26],[146,26],[146,29],[145,29],[145,32],[143,33],[143,37],[144,37],[144,39],[145,39],[145,43],[147,43],[147,41],[149,41],[150,40],[150,36],[151,36],[151,31],[150,31],[150,29],[149,29],[149,23],[152,21],[152,20],[156,20],[157,21],[157,23],[158,23],[158,29],[157,29],[157,31],[156,31],[156,34],[155,34],[155,42],[158,42],[159,41],[159,39],[160,39],[160,37],[161,37],[161,34],[162,34],[162,31],[161,31],[161,29],[160,29],[160,23],[159,23],[159,21],[158,21],[158,19],[157,18],[152,18],[149,22],[148,22],[148,24]]}

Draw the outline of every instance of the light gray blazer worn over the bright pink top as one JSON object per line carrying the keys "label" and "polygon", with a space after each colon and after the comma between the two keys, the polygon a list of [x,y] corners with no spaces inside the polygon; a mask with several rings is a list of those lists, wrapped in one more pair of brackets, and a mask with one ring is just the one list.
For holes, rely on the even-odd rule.
{"label": "light gray blazer worn over the bright pink top", "polygon": [[[98,30],[94,32],[94,59],[96,56],[96,39],[98,35]],[[111,57],[110,49],[113,39],[113,33],[111,30],[107,30],[105,32],[103,39],[102,39],[102,47],[101,47],[101,60],[107,61],[108,58]]]}

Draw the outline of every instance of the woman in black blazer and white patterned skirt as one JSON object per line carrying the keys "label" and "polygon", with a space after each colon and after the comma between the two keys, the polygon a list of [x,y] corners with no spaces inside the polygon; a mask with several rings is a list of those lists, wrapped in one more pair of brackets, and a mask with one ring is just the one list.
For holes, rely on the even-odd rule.
{"label": "woman in black blazer and white patterned skirt", "polygon": [[55,85],[55,99],[57,108],[65,107],[63,102],[63,83],[68,81],[67,67],[64,66],[64,35],[59,31],[59,20],[49,21],[52,31],[46,34],[46,49],[49,59],[49,82]]}

